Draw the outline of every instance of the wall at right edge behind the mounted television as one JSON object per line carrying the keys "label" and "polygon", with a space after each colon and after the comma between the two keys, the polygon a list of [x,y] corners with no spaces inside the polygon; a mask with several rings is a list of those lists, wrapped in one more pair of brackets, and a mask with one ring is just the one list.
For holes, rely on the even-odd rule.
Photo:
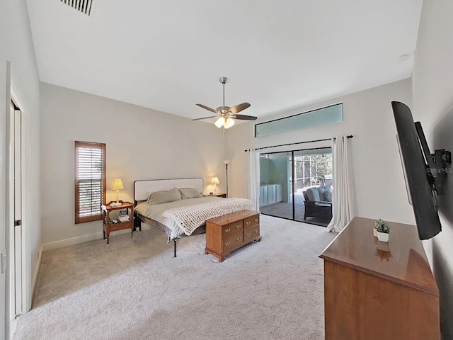
{"label": "wall at right edge behind the mounted television", "polygon": [[[453,152],[453,2],[423,1],[413,67],[413,114],[430,151]],[[451,166],[450,166],[451,169]],[[443,339],[453,339],[453,174],[439,196],[442,232],[426,242],[440,290]]]}

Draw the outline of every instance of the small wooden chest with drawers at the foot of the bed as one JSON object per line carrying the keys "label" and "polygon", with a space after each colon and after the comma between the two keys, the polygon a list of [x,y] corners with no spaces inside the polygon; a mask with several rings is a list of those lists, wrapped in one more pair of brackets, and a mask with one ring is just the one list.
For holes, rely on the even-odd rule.
{"label": "small wooden chest with drawers at the foot of the bed", "polygon": [[206,220],[205,254],[224,261],[231,251],[253,241],[260,241],[260,213],[241,210]]}

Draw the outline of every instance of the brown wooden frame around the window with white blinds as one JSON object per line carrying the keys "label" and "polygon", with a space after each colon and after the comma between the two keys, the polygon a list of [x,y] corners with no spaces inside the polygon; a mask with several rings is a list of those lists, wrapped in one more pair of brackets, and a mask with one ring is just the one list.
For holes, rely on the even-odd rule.
{"label": "brown wooden frame around the window with white blinds", "polygon": [[88,216],[80,216],[80,183],[79,181],[79,149],[80,148],[89,148],[89,149],[101,149],[102,150],[102,202],[101,205],[105,203],[105,192],[106,192],[106,187],[105,187],[105,143],[96,143],[96,142],[80,142],[80,141],[75,141],[74,142],[74,182],[75,182],[75,188],[74,188],[74,207],[75,207],[75,213],[74,213],[74,220],[76,224],[79,223],[84,223],[84,222],[91,222],[91,221],[97,221],[97,220],[102,220],[103,219],[103,211],[102,207],[99,207],[99,212],[98,213],[93,213],[93,215],[88,215]]}

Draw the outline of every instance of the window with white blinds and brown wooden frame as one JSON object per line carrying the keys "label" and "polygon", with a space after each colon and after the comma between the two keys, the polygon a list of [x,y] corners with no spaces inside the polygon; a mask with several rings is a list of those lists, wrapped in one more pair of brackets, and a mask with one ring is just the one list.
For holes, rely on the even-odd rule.
{"label": "window with white blinds and brown wooden frame", "polygon": [[75,142],[76,223],[102,220],[105,144]]}

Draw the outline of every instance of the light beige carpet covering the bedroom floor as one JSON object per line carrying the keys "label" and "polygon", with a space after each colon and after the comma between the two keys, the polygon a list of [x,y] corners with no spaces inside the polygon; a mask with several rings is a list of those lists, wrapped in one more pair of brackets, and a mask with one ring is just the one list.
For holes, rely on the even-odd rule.
{"label": "light beige carpet covering the bedroom floor", "polygon": [[261,242],[223,263],[205,235],[147,230],[45,251],[13,339],[323,339],[323,261],[336,234],[261,217]]}

